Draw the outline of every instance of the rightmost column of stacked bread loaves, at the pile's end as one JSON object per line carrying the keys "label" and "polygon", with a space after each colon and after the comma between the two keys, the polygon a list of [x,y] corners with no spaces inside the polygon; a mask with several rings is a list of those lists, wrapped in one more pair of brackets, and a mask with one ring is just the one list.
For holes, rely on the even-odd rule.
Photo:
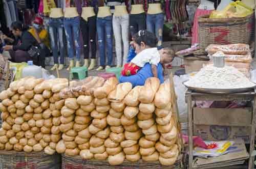
{"label": "rightmost column of stacked bread loaves, at the pile's end", "polygon": [[175,144],[177,141],[177,128],[172,116],[171,99],[170,84],[161,84],[154,99],[157,129],[161,133],[155,147],[160,153],[159,161],[163,165],[173,164],[179,155],[178,146]]}

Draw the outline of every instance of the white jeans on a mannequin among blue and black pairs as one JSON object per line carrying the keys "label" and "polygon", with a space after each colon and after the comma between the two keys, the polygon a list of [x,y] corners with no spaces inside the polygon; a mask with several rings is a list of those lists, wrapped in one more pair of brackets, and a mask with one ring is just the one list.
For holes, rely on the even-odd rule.
{"label": "white jeans on a mannequin among blue and black pairs", "polygon": [[[113,16],[113,31],[116,44],[117,65],[126,63],[129,52],[129,14],[123,16]],[[122,42],[123,42],[123,64],[122,64]]]}

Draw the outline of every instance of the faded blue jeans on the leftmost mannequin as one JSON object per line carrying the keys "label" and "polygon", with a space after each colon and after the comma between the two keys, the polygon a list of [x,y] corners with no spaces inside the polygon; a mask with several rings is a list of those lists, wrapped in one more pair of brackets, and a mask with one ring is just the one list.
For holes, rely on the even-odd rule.
{"label": "faded blue jeans on the leftmost mannequin", "polygon": [[[63,17],[50,18],[49,34],[50,34],[54,64],[59,63],[58,50],[60,52],[60,64],[64,64],[65,47],[64,47],[64,39],[63,39]],[[59,49],[58,49],[58,43],[59,43]]]}

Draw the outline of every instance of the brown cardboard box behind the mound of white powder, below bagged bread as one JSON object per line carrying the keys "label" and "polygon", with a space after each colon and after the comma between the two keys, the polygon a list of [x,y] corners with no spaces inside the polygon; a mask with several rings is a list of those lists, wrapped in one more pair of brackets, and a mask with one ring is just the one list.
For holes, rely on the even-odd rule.
{"label": "brown cardboard box behind the mound of white powder, below bagged bread", "polygon": [[198,72],[209,61],[184,59],[185,73]]}

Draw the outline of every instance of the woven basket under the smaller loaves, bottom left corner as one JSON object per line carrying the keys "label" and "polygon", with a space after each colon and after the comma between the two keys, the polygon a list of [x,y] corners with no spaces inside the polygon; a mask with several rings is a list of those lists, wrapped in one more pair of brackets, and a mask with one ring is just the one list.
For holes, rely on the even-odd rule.
{"label": "woven basket under the smaller loaves, bottom left corner", "polygon": [[0,151],[0,168],[3,169],[60,169],[59,154],[47,155],[42,152]]}

